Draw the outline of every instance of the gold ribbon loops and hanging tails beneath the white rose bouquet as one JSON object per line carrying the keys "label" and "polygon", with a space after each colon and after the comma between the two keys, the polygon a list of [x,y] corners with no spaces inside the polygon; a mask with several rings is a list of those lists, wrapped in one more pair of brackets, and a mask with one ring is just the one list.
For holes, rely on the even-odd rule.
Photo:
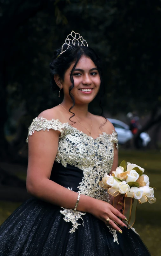
{"label": "gold ribbon loops and hanging tails beneath the white rose bouquet", "polygon": [[150,204],[153,204],[156,202],[155,197],[147,197],[147,196],[143,195],[141,199],[137,200],[134,198],[133,192],[126,192],[125,194],[120,194],[118,189],[114,189],[111,187],[108,188],[107,190],[108,190],[108,193],[114,197],[113,207],[115,207],[116,209],[118,207],[118,201],[119,201],[120,197],[122,197],[124,195],[125,198],[124,198],[123,215],[125,215],[126,218],[128,219],[128,224],[124,220],[122,220],[122,221],[125,222],[125,224],[127,225],[128,228],[131,228],[135,223],[136,209],[137,209],[138,201],[139,201],[139,204],[143,204],[145,202],[149,202]]}

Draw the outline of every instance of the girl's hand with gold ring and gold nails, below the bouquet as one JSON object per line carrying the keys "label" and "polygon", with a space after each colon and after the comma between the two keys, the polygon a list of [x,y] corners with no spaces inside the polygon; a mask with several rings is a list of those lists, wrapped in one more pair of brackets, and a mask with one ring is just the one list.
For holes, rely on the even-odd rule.
{"label": "girl's hand with gold ring and gold nails, below the bouquet", "polygon": [[[126,227],[127,226],[122,222],[119,218],[126,220],[126,216],[124,216],[120,211],[115,209],[111,204],[104,202],[102,200],[98,200],[95,198],[92,198],[90,207],[89,207],[89,213],[91,213],[96,218],[102,220],[105,224],[110,226],[111,228],[115,229],[116,231],[122,233],[122,230],[120,227]],[[118,218],[119,217],[119,218]],[[107,222],[107,219],[110,218],[111,220]],[[118,227],[117,225],[120,227]]]}

